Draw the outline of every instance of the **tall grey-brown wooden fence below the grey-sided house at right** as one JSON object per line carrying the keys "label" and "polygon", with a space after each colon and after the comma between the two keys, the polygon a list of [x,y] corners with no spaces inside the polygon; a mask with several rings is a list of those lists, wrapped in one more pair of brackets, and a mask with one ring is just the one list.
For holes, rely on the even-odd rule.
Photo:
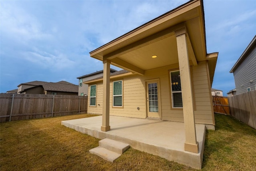
{"label": "tall grey-brown wooden fence below the grey-sided house at right", "polygon": [[231,115],[256,129],[256,90],[228,97]]}

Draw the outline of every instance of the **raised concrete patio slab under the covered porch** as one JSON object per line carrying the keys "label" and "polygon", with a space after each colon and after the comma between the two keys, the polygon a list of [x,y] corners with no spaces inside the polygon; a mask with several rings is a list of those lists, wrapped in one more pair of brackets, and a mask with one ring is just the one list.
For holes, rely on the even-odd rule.
{"label": "raised concrete patio slab under the covered porch", "polygon": [[196,124],[199,153],[184,151],[183,122],[110,116],[110,131],[100,130],[102,116],[62,121],[62,125],[99,139],[113,139],[130,147],[201,169],[206,126]]}

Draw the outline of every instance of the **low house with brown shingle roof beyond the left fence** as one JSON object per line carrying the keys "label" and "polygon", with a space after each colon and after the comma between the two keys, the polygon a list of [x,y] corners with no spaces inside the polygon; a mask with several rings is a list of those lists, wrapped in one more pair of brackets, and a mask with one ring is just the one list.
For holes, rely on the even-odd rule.
{"label": "low house with brown shingle roof beyond the left fence", "polygon": [[53,94],[53,95],[78,95],[78,85],[60,82],[33,81],[18,85],[18,93],[24,94]]}

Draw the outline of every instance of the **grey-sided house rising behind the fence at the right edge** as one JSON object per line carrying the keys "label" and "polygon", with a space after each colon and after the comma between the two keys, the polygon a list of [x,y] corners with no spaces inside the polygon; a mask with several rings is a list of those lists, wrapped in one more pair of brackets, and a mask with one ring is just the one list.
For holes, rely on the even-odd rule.
{"label": "grey-sided house rising behind the fence at the right edge", "polygon": [[236,94],[256,89],[256,36],[230,70],[234,74]]}

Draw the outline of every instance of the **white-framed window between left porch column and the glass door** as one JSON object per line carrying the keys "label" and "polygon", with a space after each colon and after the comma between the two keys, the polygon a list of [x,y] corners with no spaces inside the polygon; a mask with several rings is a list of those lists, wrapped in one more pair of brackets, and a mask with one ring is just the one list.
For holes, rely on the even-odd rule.
{"label": "white-framed window between left porch column and the glass door", "polygon": [[122,80],[113,82],[113,106],[123,106],[123,85]]}

